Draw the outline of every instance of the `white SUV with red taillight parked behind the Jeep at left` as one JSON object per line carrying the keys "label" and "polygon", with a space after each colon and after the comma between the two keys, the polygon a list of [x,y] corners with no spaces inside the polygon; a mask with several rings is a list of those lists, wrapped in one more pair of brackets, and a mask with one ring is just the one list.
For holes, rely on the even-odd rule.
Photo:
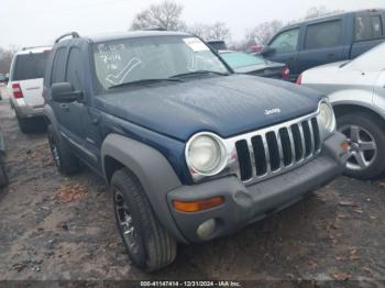
{"label": "white SUV with red taillight parked behind the Jeep at left", "polygon": [[22,132],[33,129],[32,119],[43,119],[43,79],[51,46],[23,48],[14,54],[8,91]]}

